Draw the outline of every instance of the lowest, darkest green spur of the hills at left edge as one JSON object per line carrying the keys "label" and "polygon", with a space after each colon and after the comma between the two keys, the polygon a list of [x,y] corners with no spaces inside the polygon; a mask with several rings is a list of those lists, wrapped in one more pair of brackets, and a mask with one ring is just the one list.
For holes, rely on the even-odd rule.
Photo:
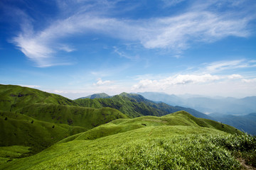
{"label": "lowest, darkest green spur of the hills at left edge", "polygon": [[48,123],[19,113],[0,111],[0,146],[23,145],[39,152],[70,135],[87,129]]}

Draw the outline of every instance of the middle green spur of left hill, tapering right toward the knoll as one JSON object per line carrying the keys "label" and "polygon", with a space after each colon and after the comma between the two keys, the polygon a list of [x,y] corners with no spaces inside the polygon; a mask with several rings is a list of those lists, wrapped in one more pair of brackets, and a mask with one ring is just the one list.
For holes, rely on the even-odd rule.
{"label": "middle green spur of left hill, tapering right toward the knoll", "polygon": [[50,123],[65,123],[87,129],[108,123],[126,115],[114,108],[85,108],[37,103],[19,110],[20,113]]}

